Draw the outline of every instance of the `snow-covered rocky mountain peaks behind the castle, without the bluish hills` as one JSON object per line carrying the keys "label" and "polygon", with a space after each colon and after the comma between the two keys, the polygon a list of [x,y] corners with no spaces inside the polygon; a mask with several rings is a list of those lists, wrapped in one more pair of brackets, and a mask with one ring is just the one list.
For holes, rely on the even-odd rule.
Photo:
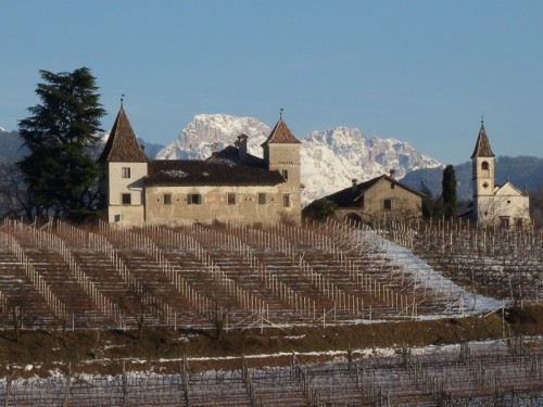
{"label": "snow-covered rocky mountain peaks behind the castle, without the bluish hills", "polygon": [[[262,157],[261,144],[269,136],[269,127],[252,117],[225,114],[194,116],[177,140],[159,152],[160,160],[203,160],[211,155],[212,144],[218,149],[233,144],[244,133],[249,137],[248,150]],[[363,182],[395,170],[396,177],[418,168],[433,168],[441,164],[426,156],[409,144],[376,136],[366,138],[361,130],[337,127],[313,131],[305,138],[296,135],[301,144],[302,192],[304,204],[346,188],[353,179]]]}

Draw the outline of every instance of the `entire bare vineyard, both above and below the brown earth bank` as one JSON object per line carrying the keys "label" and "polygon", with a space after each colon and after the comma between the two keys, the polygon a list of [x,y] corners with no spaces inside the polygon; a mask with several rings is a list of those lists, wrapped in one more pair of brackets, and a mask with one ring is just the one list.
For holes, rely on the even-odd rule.
{"label": "entire bare vineyard, both above and below the brown earth bank", "polygon": [[[4,220],[0,327],[17,338],[36,329],[265,332],[502,314],[541,301],[542,247],[541,230],[443,220],[132,229]],[[226,373],[191,372],[188,358],[168,374],[7,377],[0,393],[5,405],[538,405],[542,347],[510,338],[478,353],[467,344],[439,357],[349,352],[274,368],[241,358]]]}

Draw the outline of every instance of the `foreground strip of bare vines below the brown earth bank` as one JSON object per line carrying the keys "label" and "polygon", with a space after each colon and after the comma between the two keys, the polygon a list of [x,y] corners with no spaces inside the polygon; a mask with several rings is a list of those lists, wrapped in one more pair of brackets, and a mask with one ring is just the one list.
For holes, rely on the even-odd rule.
{"label": "foreground strip of bare vines below the brown earth bank", "polygon": [[[273,357],[273,356],[272,356]],[[233,370],[73,371],[0,381],[0,402],[16,406],[541,406],[543,343],[525,340],[462,343],[396,352],[336,353],[328,363]],[[154,369],[153,369],[154,370]],[[160,369],[156,369],[160,370]]]}

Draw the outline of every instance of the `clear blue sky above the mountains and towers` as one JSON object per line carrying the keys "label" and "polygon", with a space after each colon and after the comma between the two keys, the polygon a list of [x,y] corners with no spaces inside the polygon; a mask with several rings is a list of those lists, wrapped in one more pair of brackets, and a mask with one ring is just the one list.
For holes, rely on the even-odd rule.
{"label": "clear blue sky above the mountains and towers", "polygon": [[543,157],[543,1],[0,0],[0,127],[39,69],[87,66],[110,130],[121,94],[167,144],[199,113],[283,118],[299,138],[344,125],[444,164]]}

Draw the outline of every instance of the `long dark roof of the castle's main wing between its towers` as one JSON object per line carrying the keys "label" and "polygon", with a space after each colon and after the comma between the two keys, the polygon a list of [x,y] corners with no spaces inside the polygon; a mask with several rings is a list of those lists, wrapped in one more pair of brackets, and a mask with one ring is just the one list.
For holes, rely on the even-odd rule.
{"label": "long dark roof of the castle's main wing between its towers", "polygon": [[275,186],[279,171],[200,160],[156,160],[149,165],[147,186]]}

